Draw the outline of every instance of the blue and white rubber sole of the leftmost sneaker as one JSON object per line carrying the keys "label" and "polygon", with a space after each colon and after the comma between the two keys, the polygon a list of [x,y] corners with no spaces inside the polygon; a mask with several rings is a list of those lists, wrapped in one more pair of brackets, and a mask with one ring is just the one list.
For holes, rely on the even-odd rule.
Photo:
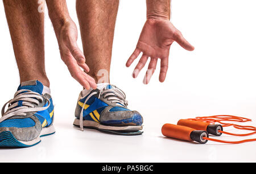
{"label": "blue and white rubber sole of the leftmost sneaker", "polygon": [[41,142],[40,137],[52,135],[55,133],[53,126],[44,127],[40,135],[34,140],[24,142],[16,139],[10,131],[0,133],[0,147],[31,147]]}

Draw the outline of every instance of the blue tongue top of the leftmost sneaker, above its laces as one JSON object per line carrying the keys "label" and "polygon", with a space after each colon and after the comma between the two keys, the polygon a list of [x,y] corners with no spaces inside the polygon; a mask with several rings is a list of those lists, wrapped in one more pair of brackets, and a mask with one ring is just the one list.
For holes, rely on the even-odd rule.
{"label": "blue tongue top of the leftmost sneaker, above its laces", "polygon": [[18,90],[27,89],[42,95],[44,85],[38,80],[24,81],[19,85]]}

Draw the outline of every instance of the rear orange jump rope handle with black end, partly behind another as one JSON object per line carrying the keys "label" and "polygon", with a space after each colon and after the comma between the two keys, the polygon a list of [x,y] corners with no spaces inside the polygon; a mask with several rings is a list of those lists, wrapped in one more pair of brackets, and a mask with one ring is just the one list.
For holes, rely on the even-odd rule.
{"label": "rear orange jump rope handle with black end, partly behind another", "polygon": [[177,125],[191,127],[195,130],[204,130],[209,134],[216,136],[220,136],[222,134],[219,130],[223,131],[223,127],[221,125],[212,125],[210,123],[192,121],[189,119],[180,119],[179,122],[177,122]]}

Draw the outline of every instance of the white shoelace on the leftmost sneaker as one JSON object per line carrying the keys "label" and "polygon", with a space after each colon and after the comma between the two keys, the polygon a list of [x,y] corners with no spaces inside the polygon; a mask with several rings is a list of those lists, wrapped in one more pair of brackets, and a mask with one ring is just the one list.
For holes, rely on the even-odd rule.
{"label": "white shoelace on the leftmost sneaker", "polygon": [[[24,115],[30,112],[42,111],[48,109],[50,105],[50,101],[46,98],[48,102],[48,106],[46,107],[35,107],[34,104],[38,105],[39,102],[43,101],[43,97],[36,92],[32,92],[31,90],[21,89],[18,90],[14,94],[14,98],[5,103],[2,107],[2,118],[0,119],[0,123],[7,118],[16,116],[16,115]],[[19,106],[19,101],[22,101],[22,106]],[[8,104],[8,109],[5,111],[5,107]],[[18,107],[16,107],[18,106]]]}

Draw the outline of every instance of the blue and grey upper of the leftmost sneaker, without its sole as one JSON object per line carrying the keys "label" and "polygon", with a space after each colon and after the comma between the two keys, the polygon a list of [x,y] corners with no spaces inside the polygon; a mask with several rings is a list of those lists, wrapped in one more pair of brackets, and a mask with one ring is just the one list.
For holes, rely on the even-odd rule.
{"label": "blue and grey upper of the leftmost sneaker, without its sole", "polygon": [[14,98],[3,106],[0,133],[10,131],[16,139],[30,141],[39,136],[43,127],[51,125],[52,99],[49,94],[42,95],[42,92],[43,84],[40,81],[19,85]]}

